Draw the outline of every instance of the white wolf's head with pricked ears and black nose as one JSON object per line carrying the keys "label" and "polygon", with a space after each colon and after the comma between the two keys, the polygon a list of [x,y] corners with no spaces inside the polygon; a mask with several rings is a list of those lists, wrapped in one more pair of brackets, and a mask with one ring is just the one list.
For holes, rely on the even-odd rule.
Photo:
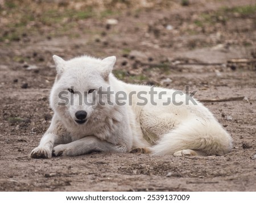
{"label": "white wolf's head with pricked ears and black nose", "polygon": [[82,56],[65,61],[53,56],[53,60],[57,75],[50,104],[55,113],[68,125],[100,121],[111,109],[109,102],[113,95],[106,92],[110,91],[109,74],[115,57],[100,60]]}

